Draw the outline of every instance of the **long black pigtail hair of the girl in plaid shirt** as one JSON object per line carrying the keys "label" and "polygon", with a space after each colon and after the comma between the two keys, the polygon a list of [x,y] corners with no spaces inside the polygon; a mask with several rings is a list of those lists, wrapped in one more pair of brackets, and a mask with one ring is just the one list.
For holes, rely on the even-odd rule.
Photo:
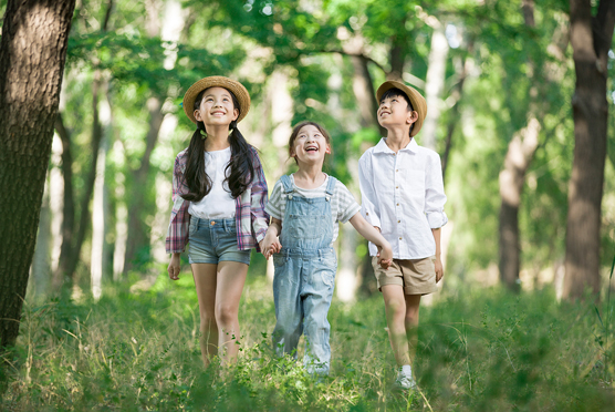
{"label": "long black pigtail hair of the girl in plaid shirt", "polygon": [[[194,110],[200,107],[202,95],[207,89],[197,94],[195,100]],[[227,90],[231,97],[234,109],[241,110],[239,102],[234,94]],[[254,166],[252,164],[252,145],[250,145],[246,137],[237,128],[237,121],[232,121],[229,125],[229,143],[231,148],[231,159],[225,168],[225,181],[228,181],[228,186],[231,192],[232,198],[239,197],[250,183],[254,175]],[[205,171],[205,141],[207,140],[207,131],[205,123],[197,121],[197,130],[192,133],[190,145],[188,146],[188,162],[186,165],[185,179],[189,193],[183,195],[186,200],[199,202],[211,190],[211,178]],[[230,169],[230,173],[229,173]]]}

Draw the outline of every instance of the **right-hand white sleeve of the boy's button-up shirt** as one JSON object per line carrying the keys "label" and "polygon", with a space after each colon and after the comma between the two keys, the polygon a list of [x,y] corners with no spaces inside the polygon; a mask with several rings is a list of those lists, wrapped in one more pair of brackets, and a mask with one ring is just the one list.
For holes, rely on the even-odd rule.
{"label": "right-hand white sleeve of the boy's button-up shirt", "polygon": [[425,171],[425,215],[429,227],[437,229],[447,224],[448,217],[445,213],[445,185],[442,181],[442,167],[440,156],[432,152],[427,162]]}

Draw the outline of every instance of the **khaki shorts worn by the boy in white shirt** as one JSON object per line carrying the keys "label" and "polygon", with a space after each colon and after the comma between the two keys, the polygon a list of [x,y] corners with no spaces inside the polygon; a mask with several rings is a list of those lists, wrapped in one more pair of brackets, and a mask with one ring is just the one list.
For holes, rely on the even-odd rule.
{"label": "khaki shorts worn by the boy in white shirt", "polygon": [[378,258],[372,258],[372,267],[378,281],[378,290],[385,285],[399,285],[405,295],[428,295],[438,291],[436,286],[436,257],[424,259],[393,259],[388,269],[378,265]]}

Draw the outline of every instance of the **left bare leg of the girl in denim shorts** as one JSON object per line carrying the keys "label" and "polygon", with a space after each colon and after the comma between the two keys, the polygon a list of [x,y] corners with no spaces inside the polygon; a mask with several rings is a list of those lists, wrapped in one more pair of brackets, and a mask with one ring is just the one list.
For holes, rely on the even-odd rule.
{"label": "left bare leg of the girl in denim shorts", "polygon": [[218,354],[218,325],[216,323],[217,266],[213,264],[192,264],[192,277],[197,288],[200,315],[200,352],[205,368]]}

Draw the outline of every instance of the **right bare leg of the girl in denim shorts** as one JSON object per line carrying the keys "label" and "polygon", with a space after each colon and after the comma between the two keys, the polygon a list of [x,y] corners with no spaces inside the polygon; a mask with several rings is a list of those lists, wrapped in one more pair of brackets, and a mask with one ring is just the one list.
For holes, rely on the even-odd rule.
{"label": "right bare leg of the girl in denim shorts", "polygon": [[216,322],[218,323],[218,348],[222,364],[232,363],[239,352],[239,300],[246,284],[248,265],[238,261],[218,264],[216,289]]}

